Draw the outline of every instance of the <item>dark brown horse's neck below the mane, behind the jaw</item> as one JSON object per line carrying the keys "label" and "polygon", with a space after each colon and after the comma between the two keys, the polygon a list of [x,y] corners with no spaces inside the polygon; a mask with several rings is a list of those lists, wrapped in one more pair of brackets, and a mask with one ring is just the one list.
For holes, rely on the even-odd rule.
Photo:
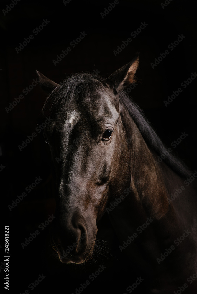
{"label": "dark brown horse's neck below the mane, behind the jaw", "polygon": [[[185,233],[184,230],[193,232],[196,228],[195,193],[189,186],[190,190],[182,192],[181,197],[172,203],[168,202],[170,194],[183,185],[184,179],[164,162],[155,163],[157,155],[148,148],[136,124],[125,112],[122,113],[121,121],[130,156],[131,192],[109,212],[109,218],[122,246],[119,246],[120,250],[125,249],[124,252],[132,261],[140,263],[147,273],[155,268],[157,274],[156,258],[160,257],[165,248],[170,248],[174,240]],[[188,238],[183,246],[193,246],[193,240]],[[177,254],[182,248],[178,247]],[[189,254],[187,252],[184,256],[185,264]],[[149,256],[150,261],[143,259],[142,255]],[[180,266],[180,274],[182,272],[183,267]],[[168,278],[171,279],[170,276]]]}

